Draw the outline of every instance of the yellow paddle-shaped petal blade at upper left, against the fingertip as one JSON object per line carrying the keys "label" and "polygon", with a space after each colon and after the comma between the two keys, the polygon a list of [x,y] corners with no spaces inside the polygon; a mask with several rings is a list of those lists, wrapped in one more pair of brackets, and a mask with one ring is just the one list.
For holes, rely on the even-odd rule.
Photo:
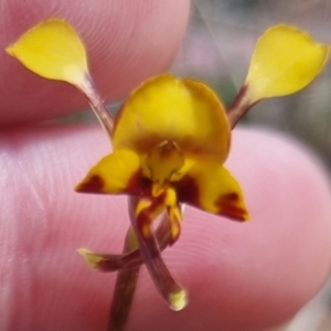
{"label": "yellow paddle-shaped petal blade at upper left, against the fingertip", "polygon": [[38,75],[81,85],[87,73],[85,47],[65,21],[51,19],[25,32],[7,53]]}

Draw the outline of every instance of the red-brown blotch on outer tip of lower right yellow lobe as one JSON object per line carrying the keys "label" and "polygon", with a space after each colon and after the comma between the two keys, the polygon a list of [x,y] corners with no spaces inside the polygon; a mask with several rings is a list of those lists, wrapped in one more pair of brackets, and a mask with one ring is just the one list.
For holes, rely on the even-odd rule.
{"label": "red-brown blotch on outer tip of lower right yellow lobe", "polygon": [[233,218],[234,221],[247,221],[248,215],[245,209],[238,206],[239,196],[237,193],[221,195],[215,201],[217,214]]}

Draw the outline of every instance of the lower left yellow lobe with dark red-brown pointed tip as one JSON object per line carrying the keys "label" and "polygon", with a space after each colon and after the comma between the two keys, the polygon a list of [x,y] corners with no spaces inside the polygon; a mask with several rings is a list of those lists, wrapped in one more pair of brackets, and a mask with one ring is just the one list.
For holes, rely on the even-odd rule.
{"label": "lower left yellow lobe with dark red-brown pointed tip", "polygon": [[102,159],[76,186],[85,193],[139,193],[141,183],[139,157],[130,150],[117,150]]}

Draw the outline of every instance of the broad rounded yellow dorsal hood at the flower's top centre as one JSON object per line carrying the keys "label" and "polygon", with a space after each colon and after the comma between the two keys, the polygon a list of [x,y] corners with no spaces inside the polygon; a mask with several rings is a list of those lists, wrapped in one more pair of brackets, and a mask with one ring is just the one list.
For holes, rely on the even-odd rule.
{"label": "broad rounded yellow dorsal hood at the flower's top centre", "polygon": [[223,162],[229,126],[222,103],[203,83],[160,75],[131,93],[116,118],[114,147],[148,153],[172,141],[185,154]]}

